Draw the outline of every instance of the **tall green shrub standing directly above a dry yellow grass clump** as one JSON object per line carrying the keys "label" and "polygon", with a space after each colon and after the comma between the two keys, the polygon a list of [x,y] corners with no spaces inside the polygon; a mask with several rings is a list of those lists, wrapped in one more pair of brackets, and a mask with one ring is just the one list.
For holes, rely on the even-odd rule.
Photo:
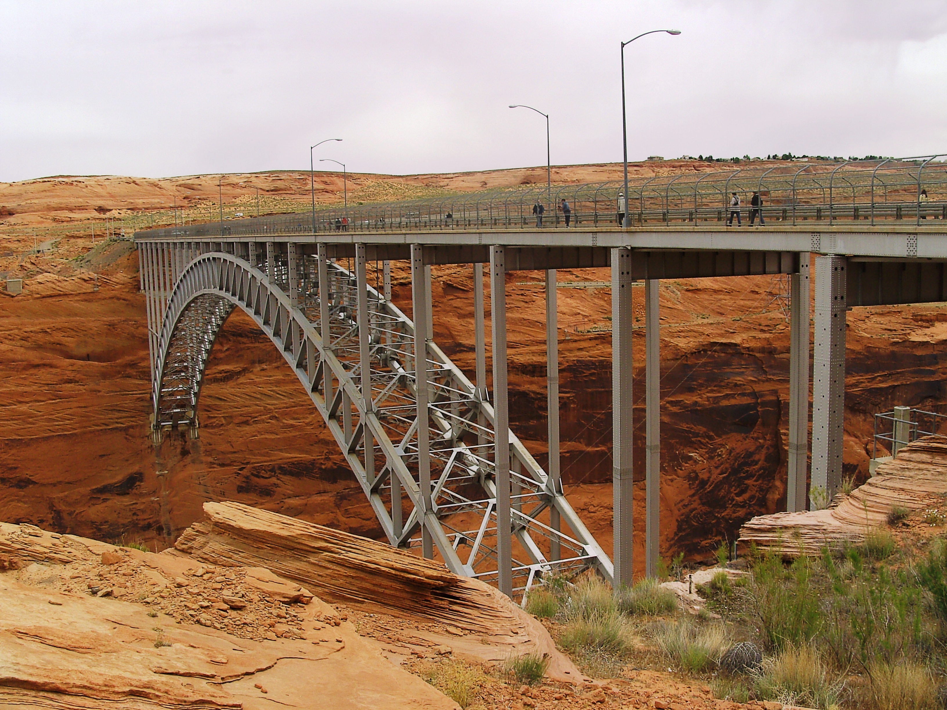
{"label": "tall green shrub standing directly above a dry yellow grass clump", "polygon": [[770,648],[808,643],[822,628],[823,615],[810,581],[811,564],[799,558],[786,569],[781,559],[767,555],[753,568],[751,604]]}

